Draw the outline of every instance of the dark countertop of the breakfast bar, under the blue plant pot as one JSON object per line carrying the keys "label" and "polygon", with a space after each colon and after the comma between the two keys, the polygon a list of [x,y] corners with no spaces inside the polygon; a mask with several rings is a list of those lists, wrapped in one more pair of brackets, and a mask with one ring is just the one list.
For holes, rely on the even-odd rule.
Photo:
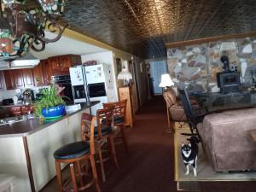
{"label": "dark countertop of the breakfast bar, under the blue plant pot", "polygon": [[31,135],[34,132],[40,131],[49,125],[53,125],[62,119],[67,119],[69,116],[72,116],[75,113],[90,108],[91,106],[96,105],[99,102],[84,102],[80,103],[81,108],[79,110],[67,113],[65,116],[60,119],[55,119],[53,121],[45,121],[44,119],[34,118],[27,119],[25,121],[19,121],[8,125],[0,125],[0,138],[1,137],[26,137]]}

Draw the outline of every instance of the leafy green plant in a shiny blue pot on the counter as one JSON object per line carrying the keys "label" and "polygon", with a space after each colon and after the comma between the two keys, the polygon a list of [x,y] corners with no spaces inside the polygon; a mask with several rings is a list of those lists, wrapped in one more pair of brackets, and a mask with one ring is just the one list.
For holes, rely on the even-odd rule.
{"label": "leafy green plant in a shiny blue pot on the counter", "polygon": [[44,119],[57,119],[66,114],[63,96],[60,96],[62,88],[50,85],[49,89],[42,91],[40,101],[35,103],[35,113]]}

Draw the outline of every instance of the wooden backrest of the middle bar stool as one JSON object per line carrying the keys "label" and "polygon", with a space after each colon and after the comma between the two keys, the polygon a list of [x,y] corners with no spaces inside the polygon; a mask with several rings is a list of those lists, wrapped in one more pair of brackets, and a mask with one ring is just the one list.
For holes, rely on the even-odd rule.
{"label": "wooden backrest of the middle bar stool", "polygon": [[113,127],[113,108],[98,109],[96,112],[98,138],[102,138],[102,127]]}

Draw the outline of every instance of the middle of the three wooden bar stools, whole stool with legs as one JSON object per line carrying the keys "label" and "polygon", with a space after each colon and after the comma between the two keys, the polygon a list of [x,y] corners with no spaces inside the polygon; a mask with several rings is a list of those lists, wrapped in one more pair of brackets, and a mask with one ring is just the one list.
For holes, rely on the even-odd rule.
{"label": "middle of the three wooden bar stools, whole stool with legs", "polygon": [[116,158],[115,147],[113,143],[113,106],[110,108],[102,108],[98,109],[96,112],[96,122],[97,125],[95,127],[95,137],[97,143],[97,151],[99,154],[99,160],[101,164],[102,170],[102,180],[106,181],[104,165],[103,165],[103,158],[102,158],[102,146],[108,143],[108,150],[110,151],[111,156],[113,157],[113,161],[117,168],[119,169],[119,163]]}

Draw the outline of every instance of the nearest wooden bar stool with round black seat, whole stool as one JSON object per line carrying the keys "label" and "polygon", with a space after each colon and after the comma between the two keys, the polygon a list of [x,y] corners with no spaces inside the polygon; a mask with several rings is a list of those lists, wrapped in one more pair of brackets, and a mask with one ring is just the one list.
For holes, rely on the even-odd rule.
{"label": "nearest wooden bar stool with round black seat, whole stool", "polygon": [[[94,137],[94,127],[96,124],[96,117],[83,113],[82,115],[82,125],[81,125],[81,142],[69,143],[59,149],[54,153],[55,157],[55,168],[58,180],[58,192],[62,191],[72,191],[79,192],[84,191],[84,189],[89,188],[92,184],[96,184],[97,192],[101,192],[98,184],[98,178],[96,173],[95,164],[95,137]],[[90,138],[90,141],[87,141]],[[91,170],[93,178],[89,183],[84,182],[84,177],[88,176],[87,172],[83,172],[80,165],[81,161],[90,160]],[[71,181],[67,183],[62,183],[61,178],[61,163],[68,163],[70,166]],[[75,165],[77,165],[77,172],[75,172]],[[79,178],[79,182],[77,182]],[[73,189],[68,189],[68,184],[73,184]]]}

